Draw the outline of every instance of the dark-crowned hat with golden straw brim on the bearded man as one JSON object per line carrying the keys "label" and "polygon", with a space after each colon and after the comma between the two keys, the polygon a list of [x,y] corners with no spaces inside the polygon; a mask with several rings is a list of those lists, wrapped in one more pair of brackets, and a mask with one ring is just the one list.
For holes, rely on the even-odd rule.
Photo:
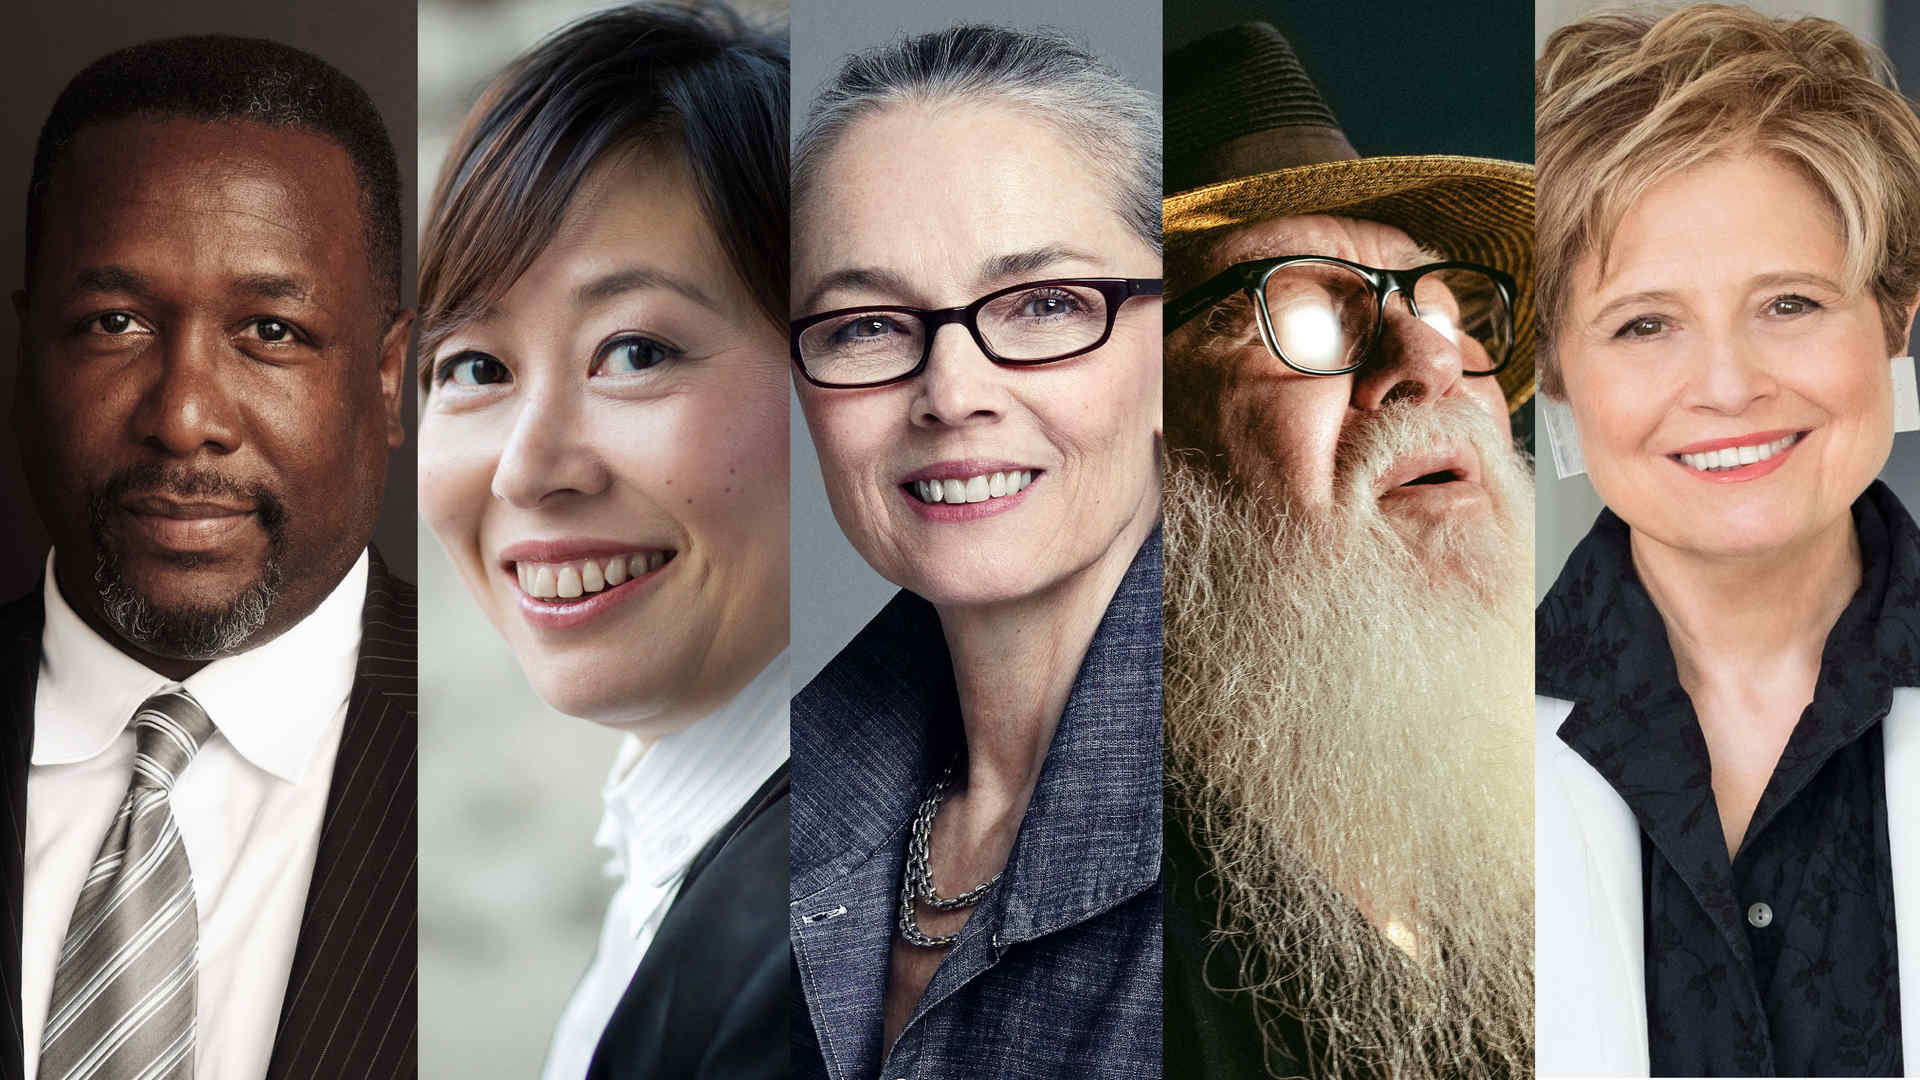
{"label": "dark-crowned hat with golden straw brim on the bearded man", "polygon": [[1519,282],[1507,409],[1534,396],[1534,167],[1490,158],[1361,158],[1286,38],[1242,23],[1167,54],[1162,204],[1169,248],[1302,213],[1392,225]]}

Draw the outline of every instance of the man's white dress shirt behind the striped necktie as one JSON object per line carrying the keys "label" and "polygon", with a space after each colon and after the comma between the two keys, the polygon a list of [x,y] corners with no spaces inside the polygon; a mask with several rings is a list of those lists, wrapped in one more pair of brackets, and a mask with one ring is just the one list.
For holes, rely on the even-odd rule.
{"label": "man's white dress shirt behind the striped necktie", "polygon": [[42,592],[21,938],[27,1076],[38,1068],[73,903],[132,782],[134,709],[186,686],[217,732],[171,796],[200,915],[194,1076],[257,1080],[273,1055],[321,846],[359,653],[367,553],[294,628],[205,665],[184,684],[148,671],[81,621],[60,596],[52,555]]}

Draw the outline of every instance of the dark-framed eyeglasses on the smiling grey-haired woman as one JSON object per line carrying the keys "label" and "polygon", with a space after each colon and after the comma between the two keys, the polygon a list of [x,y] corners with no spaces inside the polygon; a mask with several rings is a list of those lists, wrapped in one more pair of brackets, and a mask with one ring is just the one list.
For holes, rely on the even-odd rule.
{"label": "dark-framed eyeglasses on the smiling grey-haired woman", "polygon": [[933,334],[960,323],[987,359],[1033,367],[1092,352],[1114,332],[1119,306],[1160,296],[1158,277],[1056,277],[989,292],[966,307],[841,307],[789,325],[793,363],[814,386],[856,390],[927,369]]}

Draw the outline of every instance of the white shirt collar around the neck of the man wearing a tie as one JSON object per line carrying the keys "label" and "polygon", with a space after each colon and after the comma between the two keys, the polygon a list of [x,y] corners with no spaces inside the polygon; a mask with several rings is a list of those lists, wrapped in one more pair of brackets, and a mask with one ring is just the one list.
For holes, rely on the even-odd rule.
{"label": "white shirt collar around the neck of the man wearing a tie", "polygon": [[[35,765],[71,765],[104,753],[140,701],[175,686],[94,632],[60,594],[54,555],[42,584],[46,628],[35,700]],[[188,694],[227,742],[255,767],[300,782],[340,705],[353,690],[367,552],[305,619],[278,638],[207,663]]]}

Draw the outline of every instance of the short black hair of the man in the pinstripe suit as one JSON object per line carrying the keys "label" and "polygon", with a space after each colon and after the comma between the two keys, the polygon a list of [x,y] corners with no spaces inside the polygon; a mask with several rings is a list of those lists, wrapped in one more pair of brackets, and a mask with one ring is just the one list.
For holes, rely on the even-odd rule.
{"label": "short black hair of the man in the pinstripe suit", "polygon": [[359,181],[367,261],[399,309],[399,160],[359,83],[311,52],[228,35],[152,40],[88,63],[54,102],[27,186],[27,277],[40,252],[48,184],[81,129],[131,115],[182,115],[307,131],[348,152]]}

